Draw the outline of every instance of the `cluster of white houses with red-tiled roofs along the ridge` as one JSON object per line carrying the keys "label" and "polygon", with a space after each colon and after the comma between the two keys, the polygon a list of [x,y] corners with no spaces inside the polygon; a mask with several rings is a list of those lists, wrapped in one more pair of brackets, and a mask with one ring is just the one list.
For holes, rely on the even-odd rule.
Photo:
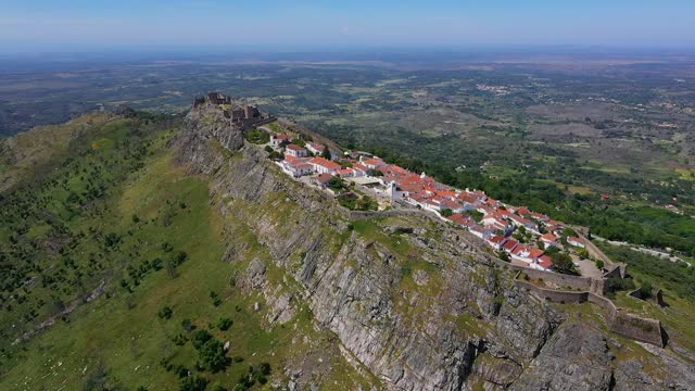
{"label": "cluster of white houses with red-tiled roofs along the ridge", "polygon": [[[379,156],[357,151],[337,155],[326,153],[324,146],[307,142],[301,147],[294,141],[296,138],[288,134],[270,135],[271,148],[283,155],[277,164],[286,174],[305,177],[307,184],[341,200],[362,200],[363,205],[378,210],[416,207],[431,212],[468,229],[504,260],[535,269],[554,269],[548,254],[560,249],[571,250],[577,257],[585,255],[584,238],[569,235],[572,230],[564,223],[526,206],[505,204],[482,190],[454,189],[426,173],[409,172]],[[356,203],[345,206],[352,204]]]}

